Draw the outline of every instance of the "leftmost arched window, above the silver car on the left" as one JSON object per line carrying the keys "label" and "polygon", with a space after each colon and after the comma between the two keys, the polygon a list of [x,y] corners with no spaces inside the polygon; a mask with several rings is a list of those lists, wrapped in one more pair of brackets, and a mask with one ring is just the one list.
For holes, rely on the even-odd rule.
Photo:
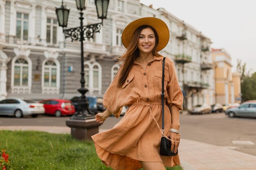
{"label": "leftmost arched window, above the silver car on the left", "polygon": [[14,86],[28,86],[29,64],[27,60],[18,58],[14,63]]}

